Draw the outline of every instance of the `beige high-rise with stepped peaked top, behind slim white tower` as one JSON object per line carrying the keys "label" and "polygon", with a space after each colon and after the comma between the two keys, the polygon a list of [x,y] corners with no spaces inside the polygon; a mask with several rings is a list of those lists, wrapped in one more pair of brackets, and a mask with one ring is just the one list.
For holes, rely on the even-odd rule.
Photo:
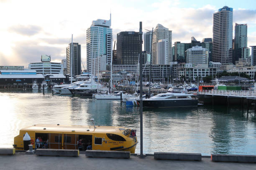
{"label": "beige high-rise with stepped peaked top, behind slim white tower", "polygon": [[166,39],[168,40],[167,45],[167,58],[168,64],[172,62],[172,31],[168,28],[165,28],[161,24],[157,24],[156,28],[153,31],[153,39],[152,39],[152,64],[156,64],[156,49],[157,43],[159,40]]}

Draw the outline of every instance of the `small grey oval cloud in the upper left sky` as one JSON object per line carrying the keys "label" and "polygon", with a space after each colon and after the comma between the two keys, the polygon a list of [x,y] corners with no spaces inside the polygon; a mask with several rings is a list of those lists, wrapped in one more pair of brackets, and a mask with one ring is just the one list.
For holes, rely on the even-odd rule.
{"label": "small grey oval cloud in the upper left sky", "polygon": [[36,35],[41,30],[42,28],[37,25],[13,25],[9,28],[10,32],[27,36]]}

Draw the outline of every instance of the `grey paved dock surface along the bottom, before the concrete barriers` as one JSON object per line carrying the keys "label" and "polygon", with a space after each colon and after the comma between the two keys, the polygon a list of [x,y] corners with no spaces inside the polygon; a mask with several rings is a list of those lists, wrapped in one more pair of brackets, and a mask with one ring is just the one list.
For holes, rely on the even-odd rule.
{"label": "grey paved dock surface along the bottom, before the concrete barriers", "polygon": [[217,163],[210,158],[202,161],[154,160],[154,156],[141,159],[87,158],[37,156],[16,153],[0,155],[0,170],[253,170],[255,163]]}

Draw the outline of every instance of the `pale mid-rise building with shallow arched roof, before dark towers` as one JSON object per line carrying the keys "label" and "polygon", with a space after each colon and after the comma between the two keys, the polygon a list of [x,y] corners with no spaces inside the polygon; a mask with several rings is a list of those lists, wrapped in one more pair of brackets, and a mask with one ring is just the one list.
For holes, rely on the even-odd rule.
{"label": "pale mid-rise building with shallow arched roof, before dark towers", "polygon": [[192,63],[192,65],[208,65],[208,50],[200,46],[189,48],[186,50],[186,59],[187,63]]}

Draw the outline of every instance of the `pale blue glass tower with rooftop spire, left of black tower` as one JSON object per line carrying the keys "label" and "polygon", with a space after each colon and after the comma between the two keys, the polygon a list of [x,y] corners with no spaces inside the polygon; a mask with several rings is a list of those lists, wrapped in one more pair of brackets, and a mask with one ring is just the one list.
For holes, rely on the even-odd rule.
{"label": "pale blue glass tower with rooftop spire, left of black tower", "polygon": [[97,19],[92,21],[92,25],[86,31],[87,50],[87,72],[92,71],[95,60],[100,55],[105,55],[106,64],[110,65],[112,57],[112,28],[111,14],[110,20]]}

